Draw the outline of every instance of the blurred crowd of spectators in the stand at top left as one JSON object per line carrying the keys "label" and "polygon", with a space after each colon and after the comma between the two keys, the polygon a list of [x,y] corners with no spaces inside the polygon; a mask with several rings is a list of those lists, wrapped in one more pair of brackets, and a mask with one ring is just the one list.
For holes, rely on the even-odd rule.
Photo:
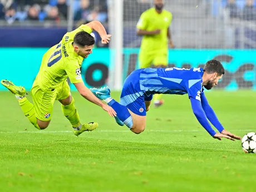
{"label": "blurred crowd of spectators in the stand at top left", "polygon": [[[0,0],[0,19],[6,19],[9,24],[16,20],[42,23],[63,21],[65,24],[68,3],[70,3],[68,0]],[[74,19],[79,23],[87,23],[92,20],[107,22],[107,0],[75,0],[74,11]]]}

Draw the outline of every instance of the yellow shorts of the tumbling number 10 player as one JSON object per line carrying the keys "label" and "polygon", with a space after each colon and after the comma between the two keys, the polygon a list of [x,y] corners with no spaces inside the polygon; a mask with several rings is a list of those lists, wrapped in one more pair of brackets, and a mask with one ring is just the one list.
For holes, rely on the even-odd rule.
{"label": "yellow shorts of the tumbling number 10 player", "polygon": [[31,94],[37,119],[50,121],[55,100],[63,100],[70,96],[70,86],[67,81],[64,81],[55,90],[43,91],[36,80],[33,83]]}

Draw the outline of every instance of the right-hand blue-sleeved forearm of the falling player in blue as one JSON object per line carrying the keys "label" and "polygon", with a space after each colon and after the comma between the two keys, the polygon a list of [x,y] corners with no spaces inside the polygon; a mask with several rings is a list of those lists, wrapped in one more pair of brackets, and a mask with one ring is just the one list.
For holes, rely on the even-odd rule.
{"label": "right-hand blue-sleeved forearm of the falling player in blue", "polygon": [[209,119],[211,124],[213,124],[213,126],[216,127],[216,129],[218,129],[219,132],[223,131],[224,127],[221,125],[220,121],[218,120],[218,117],[216,116],[213,108],[211,108],[211,106],[209,105],[204,94],[201,95],[201,104],[206,114],[206,117]]}

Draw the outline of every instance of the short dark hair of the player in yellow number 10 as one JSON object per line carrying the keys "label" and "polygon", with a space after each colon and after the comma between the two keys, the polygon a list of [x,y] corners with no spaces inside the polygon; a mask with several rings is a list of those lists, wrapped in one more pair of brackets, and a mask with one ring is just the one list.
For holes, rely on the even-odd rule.
{"label": "short dark hair of the player in yellow number 10", "polygon": [[94,45],[95,40],[89,33],[85,31],[80,31],[76,33],[74,37],[74,43],[78,46],[84,47]]}

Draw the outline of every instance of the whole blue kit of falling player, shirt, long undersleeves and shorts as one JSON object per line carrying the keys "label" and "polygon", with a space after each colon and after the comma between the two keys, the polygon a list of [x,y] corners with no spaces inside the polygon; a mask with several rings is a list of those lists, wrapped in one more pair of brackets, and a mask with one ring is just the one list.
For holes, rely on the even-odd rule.
{"label": "whole blue kit of falling player, shirt, long undersleeves and shorts", "polygon": [[120,104],[127,106],[136,115],[145,116],[145,101],[152,100],[152,95],[188,93],[196,118],[206,131],[214,136],[216,132],[211,128],[208,120],[220,132],[224,130],[224,127],[204,95],[203,74],[203,68],[171,67],[135,70],[124,82]]}

